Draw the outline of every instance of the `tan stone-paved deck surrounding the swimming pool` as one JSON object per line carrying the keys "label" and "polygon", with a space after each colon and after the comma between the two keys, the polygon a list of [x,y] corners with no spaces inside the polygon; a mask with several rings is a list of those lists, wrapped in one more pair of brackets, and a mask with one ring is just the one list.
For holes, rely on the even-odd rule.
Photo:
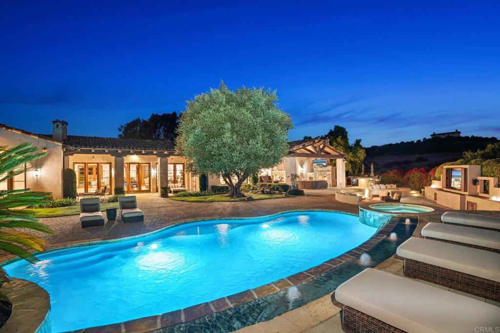
{"label": "tan stone-paved deck surrounding the swimming pool", "polygon": [[[85,243],[89,241],[116,239],[126,236],[144,234],[150,231],[196,219],[213,219],[226,217],[252,217],[275,214],[289,210],[325,209],[349,213],[358,213],[357,205],[340,203],[334,199],[334,190],[309,190],[303,197],[290,197],[247,202],[224,203],[186,203],[158,197],[156,194],[137,195],[138,207],[144,211],[144,222],[127,223],[121,221],[106,222],[104,227],[82,229],[78,216],[66,216],[42,219],[56,233],[41,235],[50,247],[66,244]],[[376,203],[379,201],[373,201]],[[402,203],[423,204],[435,209],[432,214],[419,219],[414,236],[420,235],[420,230],[430,221],[439,221],[440,215],[448,210],[422,197],[403,197]],[[477,212],[479,214],[494,214],[496,212]],[[0,258],[0,262],[10,256]],[[402,261],[391,257],[379,264],[377,269],[402,275]],[[457,292],[458,293],[458,292]],[[337,304],[338,305],[338,304]],[[497,304],[499,305],[499,304]],[[331,303],[331,294],[321,297],[300,308],[284,313],[266,322],[261,322],[237,332],[342,332],[340,328],[340,308]]]}

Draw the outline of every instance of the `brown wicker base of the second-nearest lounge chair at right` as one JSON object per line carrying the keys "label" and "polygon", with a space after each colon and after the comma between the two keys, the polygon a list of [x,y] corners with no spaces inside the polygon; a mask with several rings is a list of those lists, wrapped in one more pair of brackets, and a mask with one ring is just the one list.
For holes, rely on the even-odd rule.
{"label": "brown wicker base of the second-nearest lounge chair at right", "polygon": [[500,283],[495,281],[407,258],[404,259],[403,274],[408,278],[432,282],[436,285],[500,302]]}

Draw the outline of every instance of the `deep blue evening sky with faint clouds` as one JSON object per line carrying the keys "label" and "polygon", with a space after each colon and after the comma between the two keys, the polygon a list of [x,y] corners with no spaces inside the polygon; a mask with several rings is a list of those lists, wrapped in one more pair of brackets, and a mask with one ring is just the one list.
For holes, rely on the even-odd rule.
{"label": "deep blue evening sky with faint clouds", "polygon": [[499,17],[500,1],[1,1],[0,123],[113,137],[223,79],[276,89],[290,139],[498,137]]}

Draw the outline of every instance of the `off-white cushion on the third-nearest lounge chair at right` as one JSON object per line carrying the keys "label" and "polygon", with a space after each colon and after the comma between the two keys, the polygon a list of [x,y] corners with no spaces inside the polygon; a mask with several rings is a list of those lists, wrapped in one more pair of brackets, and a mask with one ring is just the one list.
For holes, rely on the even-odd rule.
{"label": "off-white cushion on the third-nearest lounge chair at right", "polygon": [[421,234],[424,237],[500,250],[500,233],[494,230],[430,222],[423,227]]}

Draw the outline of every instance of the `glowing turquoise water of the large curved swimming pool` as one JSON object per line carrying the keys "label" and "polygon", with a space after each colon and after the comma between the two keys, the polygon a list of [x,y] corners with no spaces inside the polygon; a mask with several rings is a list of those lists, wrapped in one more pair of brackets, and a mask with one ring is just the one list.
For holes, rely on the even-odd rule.
{"label": "glowing turquoise water of the large curved swimming pool", "polygon": [[369,239],[358,216],[289,212],[211,220],[5,265],[50,294],[52,332],[186,308],[316,266]]}

